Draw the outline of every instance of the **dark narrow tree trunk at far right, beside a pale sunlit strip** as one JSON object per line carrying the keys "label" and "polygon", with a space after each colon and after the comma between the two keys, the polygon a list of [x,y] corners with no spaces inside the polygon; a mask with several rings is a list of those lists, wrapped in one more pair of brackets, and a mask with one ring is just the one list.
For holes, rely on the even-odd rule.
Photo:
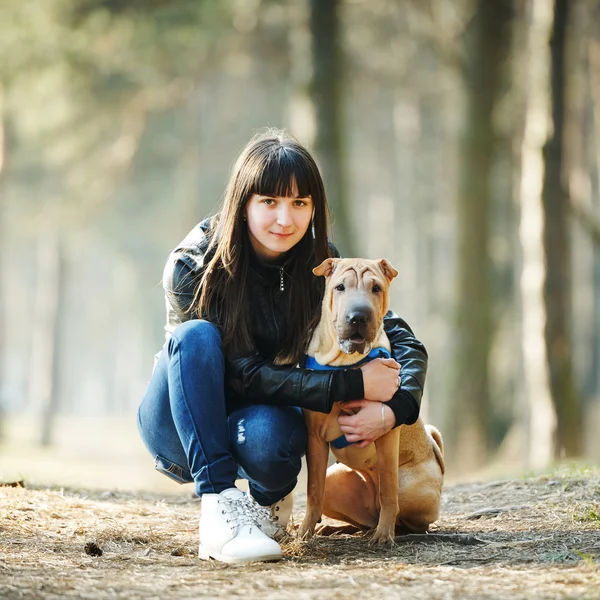
{"label": "dark narrow tree trunk at far right, beside a pale sunlit strip", "polygon": [[568,195],[564,186],[565,45],[569,0],[555,0],[550,38],[552,133],[544,145],[545,340],[550,393],[556,410],[557,457],[582,450],[581,405],[573,380],[570,334],[571,255]]}

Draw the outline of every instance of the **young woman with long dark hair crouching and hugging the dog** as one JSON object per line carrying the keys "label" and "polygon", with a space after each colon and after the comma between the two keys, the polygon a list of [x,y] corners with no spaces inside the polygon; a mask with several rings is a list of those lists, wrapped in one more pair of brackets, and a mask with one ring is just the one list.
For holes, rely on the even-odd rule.
{"label": "young woman with long dark hair crouching and hugging the dog", "polygon": [[[324,292],[312,269],[337,256],[328,229],[314,160],[270,131],[242,151],[221,211],[167,261],[167,341],[138,426],[156,468],[194,482],[202,497],[201,558],[281,558],[276,538],[292,512],[307,443],[301,408],[329,412],[335,401],[363,400],[344,424],[348,440],[362,444],[419,414],[427,354],[391,312],[385,330],[396,360],[357,370],[295,366]],[[248,480],[248,495],[237,478]]]}

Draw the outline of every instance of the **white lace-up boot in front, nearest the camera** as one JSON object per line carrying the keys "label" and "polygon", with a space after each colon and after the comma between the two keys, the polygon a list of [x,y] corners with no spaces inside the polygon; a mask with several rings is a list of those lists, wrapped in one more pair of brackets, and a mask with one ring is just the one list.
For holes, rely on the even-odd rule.
{"label": "white lace-up boot in front, nearest the camera", "polygon": [[248,497],[237,488],[202,495],[198,556],[245,564],[281,560],[279,544],[265,535]]}

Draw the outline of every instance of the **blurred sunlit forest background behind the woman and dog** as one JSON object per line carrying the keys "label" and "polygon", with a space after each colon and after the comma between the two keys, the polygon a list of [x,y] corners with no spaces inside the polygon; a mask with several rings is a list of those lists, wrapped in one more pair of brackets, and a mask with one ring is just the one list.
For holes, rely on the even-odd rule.
{"label": "blurred sunlit forest background behind the woman and dog", "polygon": [[1,478],[167,481],[163,264],[266,126],[400,271],[450,474],[600,461],[600,0],[3,0],[0,56]]}

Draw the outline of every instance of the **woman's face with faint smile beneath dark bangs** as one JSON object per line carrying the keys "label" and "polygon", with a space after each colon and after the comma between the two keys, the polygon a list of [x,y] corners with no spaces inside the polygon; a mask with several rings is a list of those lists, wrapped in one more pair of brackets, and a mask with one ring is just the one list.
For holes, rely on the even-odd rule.
{"label": "woman's face with faint smile beneath dark bangs", "polygon": [[313,215],[310,196],[261,196],[246,203],[248,235],[254,251],[263,260],[277,260],[303,237]]}

